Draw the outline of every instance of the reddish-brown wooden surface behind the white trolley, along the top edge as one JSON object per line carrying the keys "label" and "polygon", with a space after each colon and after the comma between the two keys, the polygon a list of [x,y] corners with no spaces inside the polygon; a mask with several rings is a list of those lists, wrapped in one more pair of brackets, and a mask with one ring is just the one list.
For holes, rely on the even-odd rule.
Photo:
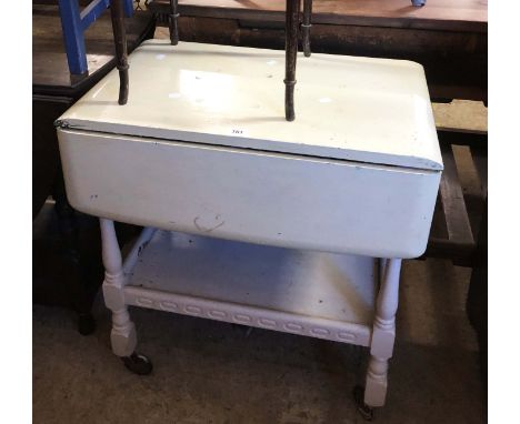
{"label": "reddish-brown wooden surface behind the white trolley, along the top edge", "polygon": [[[162,11],[168,0],[149,6]],[[284,0],[179,0],[181,16],[283,20]],[[487,0],[428,0],[423,8],[409,0],[314,0],[313,23],[422,28],[452,31],[488,30]]]}

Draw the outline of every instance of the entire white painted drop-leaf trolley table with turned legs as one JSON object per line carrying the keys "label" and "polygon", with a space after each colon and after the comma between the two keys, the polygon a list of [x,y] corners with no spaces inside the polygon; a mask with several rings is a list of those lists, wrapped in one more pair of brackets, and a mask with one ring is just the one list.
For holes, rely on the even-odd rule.
{"label": "entire white painted drop-leaf trolley table with turned legs", "polygon": [[[381,406],[401,259],[426,249],[442,170],[424,72],[312,54],[287,122],[283,54],[144,42],[126,105],[113,71],[57,121],[68,198],[101,219],[117,355],[128,305],[351,343]],[[144,226],[124,262],[113,221]]]}

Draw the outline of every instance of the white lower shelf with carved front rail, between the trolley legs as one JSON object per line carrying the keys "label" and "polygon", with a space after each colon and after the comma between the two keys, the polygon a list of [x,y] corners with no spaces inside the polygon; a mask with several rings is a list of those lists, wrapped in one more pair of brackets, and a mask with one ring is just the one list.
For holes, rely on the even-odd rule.
{"label": "white lower shelf with carved front rail, between the trolley legs", "polygon": [[[139,243],[138,243],[139,244]],[[126,303],[368,346],[377,261],[159,231]]]}

